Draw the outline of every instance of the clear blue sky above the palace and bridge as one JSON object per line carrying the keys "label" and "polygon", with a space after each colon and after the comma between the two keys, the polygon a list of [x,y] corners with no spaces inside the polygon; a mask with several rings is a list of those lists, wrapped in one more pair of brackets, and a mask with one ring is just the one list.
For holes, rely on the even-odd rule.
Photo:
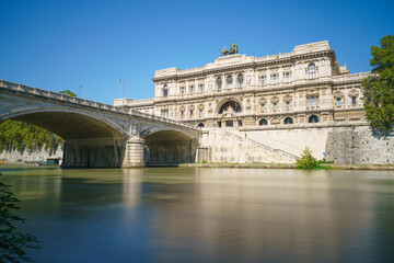
{"label": "clear blue sky above the palace and bridge", "polygon": [[237,42],[265,56],[329,41],[350,72],[394,34],[394,1],[0,0],[0,79],[113,104],[154,95],[158,69],[201,67]]}

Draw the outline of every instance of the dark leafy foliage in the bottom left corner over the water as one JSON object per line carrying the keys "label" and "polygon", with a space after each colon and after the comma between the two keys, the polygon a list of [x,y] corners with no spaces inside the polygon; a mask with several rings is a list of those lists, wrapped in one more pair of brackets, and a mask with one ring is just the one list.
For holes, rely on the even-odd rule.
{"label": "dark leafy foliage in the bottom left corner over the water", "polygon": [[15,205],[19,199],[9,187],[0,181],[0,262],[32,262],[26,249],[38,249],[38,240],[16,229],[15,224],[24,222],[24,219],[10,211],[19,209]]}

